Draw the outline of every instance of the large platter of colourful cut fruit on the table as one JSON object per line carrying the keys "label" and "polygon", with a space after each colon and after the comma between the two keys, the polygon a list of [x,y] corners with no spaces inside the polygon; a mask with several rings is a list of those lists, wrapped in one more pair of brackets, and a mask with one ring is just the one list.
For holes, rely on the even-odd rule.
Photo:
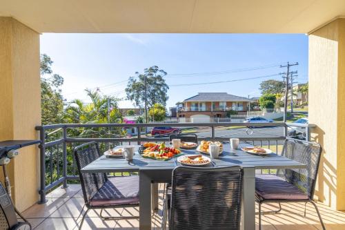
{"label": "large platter of colourful cut fruit on the table", "polygon": [[141,145],[139,148],[139,154],[141,157],[155,160],[170,160],[172,157],[177,157],[184,153],[181,153],[181,151],[177,148],[166,146],[164,142],[161,144],[147,142]]}

